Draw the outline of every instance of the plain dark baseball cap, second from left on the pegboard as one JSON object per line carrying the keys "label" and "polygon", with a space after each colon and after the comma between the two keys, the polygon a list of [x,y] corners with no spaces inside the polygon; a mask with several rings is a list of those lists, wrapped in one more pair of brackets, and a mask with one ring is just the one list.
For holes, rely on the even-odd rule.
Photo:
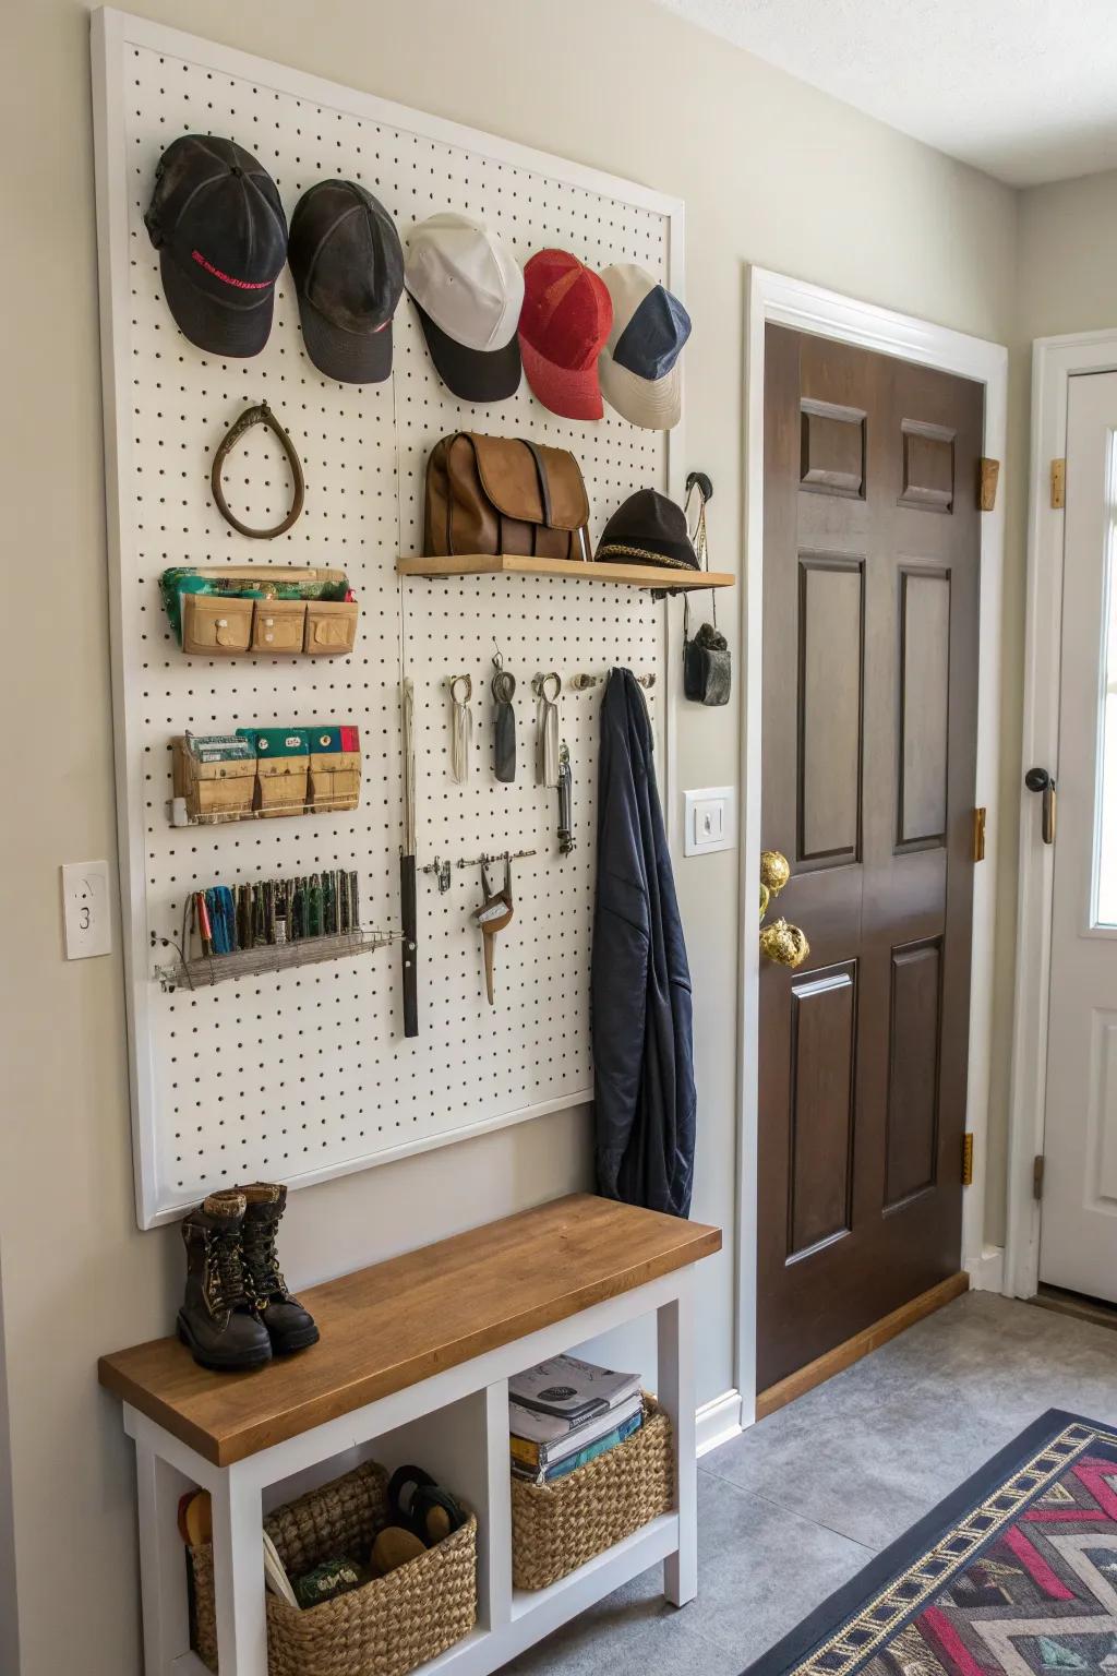
{"label": "plain dark baseball cap, second from left on the pegboard", "polygon": [[383,204],[357,181],[318,181],[295,204],[288,261],[315,367],[342,384],[387,379],[404,250]]}

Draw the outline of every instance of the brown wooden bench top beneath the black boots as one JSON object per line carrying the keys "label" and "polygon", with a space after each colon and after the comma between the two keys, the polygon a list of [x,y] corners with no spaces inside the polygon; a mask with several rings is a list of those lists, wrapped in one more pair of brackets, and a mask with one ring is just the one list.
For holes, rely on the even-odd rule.
{"label": "brown wooden bench top beneath the black boots", "polygon": [[178,1339],[102,1356],[97,1373],[229,1466],[720,1247],[702,1222],[571,1193],[300,1291],[322,1341],[256,1373],[208,1373]]}

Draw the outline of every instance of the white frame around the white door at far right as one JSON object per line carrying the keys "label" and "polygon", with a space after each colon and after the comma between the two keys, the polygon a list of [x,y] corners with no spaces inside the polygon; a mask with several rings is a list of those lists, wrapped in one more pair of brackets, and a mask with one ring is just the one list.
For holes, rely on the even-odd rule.
{"label": "white frame around the white door at far right", "polygon": [[1017,985],[1008,1094],[1008,1225],[1005,1291],[1032,1297],[1040,1280],[1040,1207],[1032,1166],[1043,1151],[1047,1011],[1052,967],[1055,850],[1040,838],[1023,776],[1035,764],[1058,776],[1058,675],[1063,598],[1063,511],[1050,504],[1050,463],[1067,456],[1067,397],[1082,372],[1117,372],[1117,328],[1040,337],[1032,345],[1032,458],[1023,639],[1023,759],[1020,764],[1020,888]]}

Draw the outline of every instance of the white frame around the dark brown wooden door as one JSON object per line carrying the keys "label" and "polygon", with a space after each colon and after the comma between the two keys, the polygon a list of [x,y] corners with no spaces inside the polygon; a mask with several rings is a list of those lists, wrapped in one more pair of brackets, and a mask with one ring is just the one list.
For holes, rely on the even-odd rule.
{"label": "white frame around the dark brown wooden door", "polygon": [[[764,657],[764,328],[769,322],[941,367],[985,385],[985,454],[1005,459],[1008,350],[985,339],[929,325],[807,285],[765,268],[749,270],[745,303],[745,593],[740,759],[740,1019],[737,1185],[737,1389],[742,1425],[755,1418],[757,1366],[757,1108],[760,949],[752,913],[760,877],[760,665]],[[976,484],[975,484],[976,493]],[[993,1014],[996,903],[996,778],[1000,746],[1001,577],[1005,486],[981,515],[976,803],[988,811],[986,860],[973,877],[973,964],[966,1128],[973,1133],[973,1187],[963,1205],[963,1264],[980,1270],[985,1232],[985,1140]]]}

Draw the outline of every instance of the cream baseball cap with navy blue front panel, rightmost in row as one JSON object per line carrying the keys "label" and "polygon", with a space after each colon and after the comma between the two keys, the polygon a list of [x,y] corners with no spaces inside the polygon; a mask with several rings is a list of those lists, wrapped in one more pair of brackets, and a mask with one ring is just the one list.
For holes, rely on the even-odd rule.
{"label": "cream baseball cap with navy blue front panel, rightmost in row", "polygon": [[613,330],[598,359],[601,394],[630,424],[670,431],[683,407],[678,357],[690,315],[635,261],[601,268],[601,278],[613,300]]}

